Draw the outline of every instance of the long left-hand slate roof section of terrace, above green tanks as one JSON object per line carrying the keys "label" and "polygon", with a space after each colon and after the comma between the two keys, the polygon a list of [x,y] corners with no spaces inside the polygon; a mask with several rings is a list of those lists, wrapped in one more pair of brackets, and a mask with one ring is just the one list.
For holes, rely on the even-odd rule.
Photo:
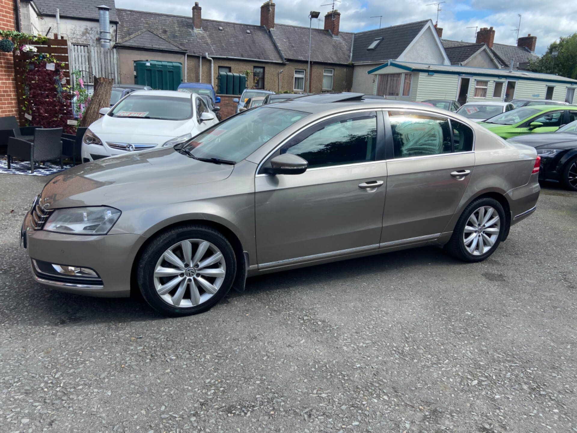
{"label": "long left-hand slate roof section of terrace, above green tanks", "polygon": [[267,29],[259,25],[203,19],[203,31],[194,31],[192,17],[129,9],[117,9],[117,15],[121,23],[118,25],[119,40],[141,30],[152,30],[182,46],[189,54],[283,61]]}

